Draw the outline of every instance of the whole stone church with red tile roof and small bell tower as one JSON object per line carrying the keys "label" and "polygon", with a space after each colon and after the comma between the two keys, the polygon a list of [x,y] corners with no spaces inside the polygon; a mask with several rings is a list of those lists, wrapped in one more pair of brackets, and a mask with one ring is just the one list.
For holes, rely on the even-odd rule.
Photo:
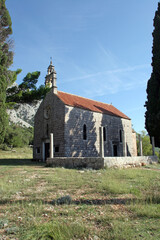
{"label": "whole stone church with red tile roof and small bell tower", "polygon": [[[51,87],[34,122],[33,158],[49,157],[53,133],[55,157],[136,156],[136,133],[131,119],[112,104],[57,90],[52,61],[45,84]],[[103,146],[100,147],[103,136]]]}

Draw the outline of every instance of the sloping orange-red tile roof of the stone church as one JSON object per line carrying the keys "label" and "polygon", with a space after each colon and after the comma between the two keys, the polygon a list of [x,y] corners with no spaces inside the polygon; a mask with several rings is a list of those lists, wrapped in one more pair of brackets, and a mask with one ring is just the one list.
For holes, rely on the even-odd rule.
{"label": "sloping orange-red tile roof of the stone church", "polygon": [[104,113],[120,118],[129,119],[124,113],[111,104],[97,102],[84,97],[58,91],[58,97],[65,105],[86,109],[92,112]]}

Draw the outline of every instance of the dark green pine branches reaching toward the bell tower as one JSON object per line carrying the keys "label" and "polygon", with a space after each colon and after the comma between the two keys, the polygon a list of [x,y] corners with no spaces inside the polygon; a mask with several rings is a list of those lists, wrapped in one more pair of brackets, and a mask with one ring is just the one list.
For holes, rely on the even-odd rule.
{"label": "dark green pine branches reaching toward the bell tower", "polygon": [[28,73],[19,86],[13,86],[7,89],[8,106],[13,103],[30,103],[35,100],[41,100],[45,97],[50,88],[41,85],[36,87],[40,72]]}

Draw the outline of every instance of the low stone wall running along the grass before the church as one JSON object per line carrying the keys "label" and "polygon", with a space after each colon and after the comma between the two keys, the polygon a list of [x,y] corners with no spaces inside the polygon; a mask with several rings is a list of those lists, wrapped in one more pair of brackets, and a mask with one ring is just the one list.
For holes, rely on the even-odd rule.
{"label": "low stone wall running along the grass before the church", "polygon": [[156,156],[142,156],[142,157],[55,157],[48,158],[47,166],[65,167],[65,168],[92,168],[101,169],[104,167],[128,168],[140,167],[152,163],[157,163]]}

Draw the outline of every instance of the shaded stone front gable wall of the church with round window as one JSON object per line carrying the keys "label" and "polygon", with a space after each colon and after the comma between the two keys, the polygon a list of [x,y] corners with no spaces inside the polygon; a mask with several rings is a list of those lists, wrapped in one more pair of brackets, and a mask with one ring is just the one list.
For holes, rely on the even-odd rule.
{"label": "shaded stone front gable wall of the church with round window", "polygon": [[[34,123],[33,158],[44,160],[45,144],[50,143],[50,133],[54,134],[55,156],[64,156],[64,103],[52,93],[47,94],[41,103]],[[40,153],[37,153],[37,148]]]}

